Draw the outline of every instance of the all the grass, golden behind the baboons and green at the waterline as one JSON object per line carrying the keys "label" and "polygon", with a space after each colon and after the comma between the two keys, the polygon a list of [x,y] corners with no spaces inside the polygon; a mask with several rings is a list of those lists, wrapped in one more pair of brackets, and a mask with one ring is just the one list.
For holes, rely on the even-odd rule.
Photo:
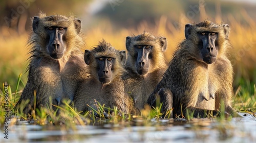
{"label": "all the grass, golden behind the baboons and green at the waterline", "polygon": [[[206,14],[205,14],[206,15]],[[201,17],[205,18],[205,17]],[[215,19],[210,19],[213,22],[219,22],[219,17],[216,16]],[[102,38],[110,42],[116,49],[125,50],[125,38],[126,36],[131,36],[132,34],[138,35],[143,31],[151,32],[154,35],[164,36],[167,38],[167,51],[165,52],[166,61],[172,59],[172,54],[181,40],[185,38],[184,36],[184,27],[186,23],[191,23],[193,20],[186,18],[183,14],[180,15],[179,21],[180,27],[174,25],[174,23],[168,22],[166,16],[162,16],[157,19],[155,27],[150,27],[147,25],[147,22],[142,22],[138,27],[134,29],[119,29],[118,31],[112,26],[111,21],[105,20],[101,22],[98,27],[88,29],[84,32],[84,40],[87,43],[86,47],[83,47],[81,50],[91,49],[92,46],[98,44]],[[199,22],[199,21],[195,21]],[[256,33],[254,32],[255,23],[248,22],[249,25],[241,25],[236,18],[229,16],[228,21],[225,21],[230,25],[230,42],[233,46],[232,49],[229,49],[228,55],[229,59],[233,64],[234,69],[234,108],[236,110],[241,110],[246,113],[252,114],[255,116],[256,110]],[[62,106],[56,106],[58,109],[54,111],[52,105],[46,108],[35,109],[35,106],[32,110],[31,115],[25,115],[21,111],[24,107],[20,107],[19,110],[12,110],[18,101],[22,90],[25,87],[27,81],[26,66],[28,65],[27,53],[29,52],[29,47],[26,45],[28,40],[27,34],[19,35],[15,31],[3,27],[1,32],[3,35],[8,35],[7,37],[0,37],[0,83],[5,81],[8,83],[8,110],[12,111],[14,118],[18,120],[25,120],[31,124],[38,125],[66,125],[65,129],[76,129],[76,125],[87,125],[91,122],[97,122],[98,120],[107,119],[114,124],[118,124],[120,121],[131,121],[133,117],[142,118],[142,120],[147,123],[152,118],[160,119],[163,115],[161,104],[155,109],[150,109],[145,107],[141,110],[140,115],[132,116],[125,115],[117,110],[117,108],[110,109],[104,107],[104,104],[99,104],[97,101],[97,109],[92,107],[90,111],[81,113],[76,111],[73,108],[71,101],[66,101]],[[12,33],[12,34],[11,34]],[[4,94],[5,88],[1,87],[0,91],[0,105],[5,106]],[[24,103],[23,105],[25,105]],[[225,116],[224,109],[220,109],[220,117],[218,122],[220,123],[219,131],[220,134],[230,136],[226,133],[226,130],[223,125],[226,124],[226,120],[230,119]],[[172,110],[167,111],[164,117],[169,117]],[[58,113],[58,114],[57,114]],[[6,114],[5,108],[0,108],[0,125],[3,126]],[[11,115],[11,114],[9,114]],[[177,118],[183,118],[183,114],[178,115]],[[206,117],[211,118],[212,116],[206,115]],[[193,120],[193,112],[187,115],[187,120]]]}

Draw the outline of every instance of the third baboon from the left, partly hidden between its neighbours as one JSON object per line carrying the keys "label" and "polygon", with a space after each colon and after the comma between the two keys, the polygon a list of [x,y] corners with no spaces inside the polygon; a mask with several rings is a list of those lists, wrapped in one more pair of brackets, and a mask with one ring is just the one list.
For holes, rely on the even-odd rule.
{"label": "third baboon from the left, partly hidden between its neighbours", "polygon": [[142,109],[167,68],[164,52],[166,38],[148,32],[126,37],[127,73],[125,92],[130,93],[137,108]]}

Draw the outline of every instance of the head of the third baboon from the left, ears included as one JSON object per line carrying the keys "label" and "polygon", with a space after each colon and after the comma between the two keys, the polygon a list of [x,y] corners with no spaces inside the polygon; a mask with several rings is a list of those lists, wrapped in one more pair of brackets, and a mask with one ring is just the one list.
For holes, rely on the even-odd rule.
{"label": "head of the third baboon from the left, ears included", "polygon": [[127,36],[126,49],[133,58],[137,73],[145,75],[156,63],[157,53],[166,50],[166,38],[155,37],[146,32],[136,37]]}

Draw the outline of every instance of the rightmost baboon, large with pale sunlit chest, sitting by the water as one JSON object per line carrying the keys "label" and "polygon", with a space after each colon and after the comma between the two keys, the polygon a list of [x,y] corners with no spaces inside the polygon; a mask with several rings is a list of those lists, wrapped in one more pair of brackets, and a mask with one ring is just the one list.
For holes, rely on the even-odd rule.
{"label": "rightmost baboon, large with pale sunlit chest, sitting by the water", "polygon": [[[204,112],[218,114],[221,100],[225,111],[233,113],[232,65],[227,58],[229,26],[205,20],[185,26],[185,40],[176,51],[161,81],[148,98],[156,106],[160,96],[163,110],[173,110],[174,115],[194,111],[195,117]],[[182,109],[182,110],[181,110]]]}

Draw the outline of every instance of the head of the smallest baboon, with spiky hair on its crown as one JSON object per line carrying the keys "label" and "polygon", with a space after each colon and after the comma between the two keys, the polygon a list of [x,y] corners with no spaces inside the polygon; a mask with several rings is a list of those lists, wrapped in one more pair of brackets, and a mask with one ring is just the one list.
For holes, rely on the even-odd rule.
{"label": "head of the smallest baboon, with spiky hair on its crown", "polygon": [[111,44],[99,42],[94,50],[86,50],[84,61],[91,68],[91,74],[98,78],[102,84],[110,83],[118,74],[125,62],[125,51],[117,51]]}

